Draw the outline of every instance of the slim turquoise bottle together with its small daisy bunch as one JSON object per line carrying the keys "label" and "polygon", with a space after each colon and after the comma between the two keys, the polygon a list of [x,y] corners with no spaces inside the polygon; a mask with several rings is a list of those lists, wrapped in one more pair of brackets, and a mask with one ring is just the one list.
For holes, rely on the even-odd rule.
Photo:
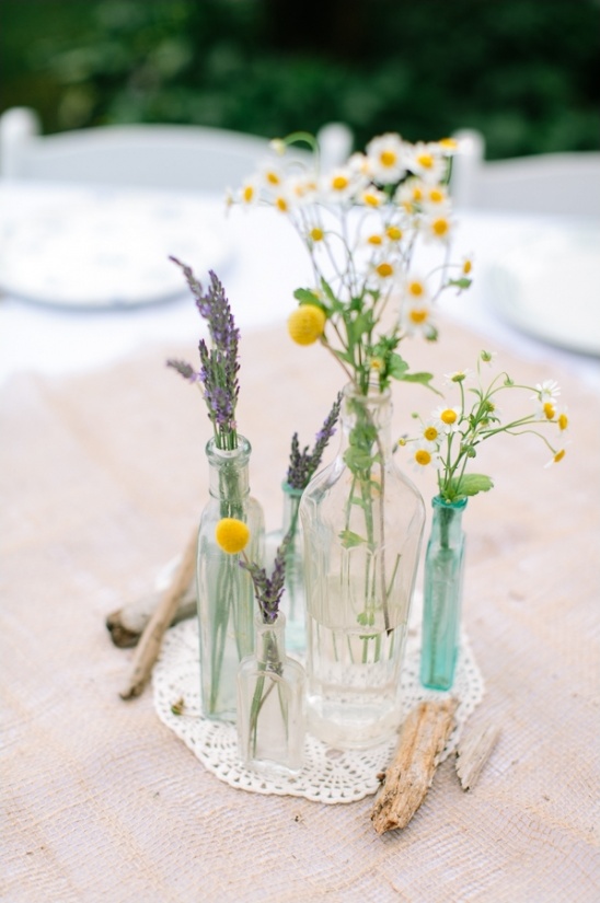
{"label": "slim turquoise bottle together with its small daisy bunch", "polygon": [[[461,370],[447,377],[458,398],[438,406],[419,421],[416,436],[402,438],[401,445],[413,448],[416,470],[437,471],[438,494],[432,499],[431,534],[425,556],[422,683],[434,690],[450,690],[460,646],[460,610],[464,534],[461,519],[468,499],[493,487],[485,474],[471,473],[483,442],[507,433],[532,433],[550,450],[550,464],[565,455],[563,436],[568,428],[568,415],[558,404],[559,386],[554,380],[536,385],[516,383],[506,372],[482,378],[482,369],[493,362],[494,355],[482,351],[476,373]],[[505,417],[498,401],[506,392],[529,395],[522,414]],[[551,441],[547,430],[556,432],[558,442]]]}

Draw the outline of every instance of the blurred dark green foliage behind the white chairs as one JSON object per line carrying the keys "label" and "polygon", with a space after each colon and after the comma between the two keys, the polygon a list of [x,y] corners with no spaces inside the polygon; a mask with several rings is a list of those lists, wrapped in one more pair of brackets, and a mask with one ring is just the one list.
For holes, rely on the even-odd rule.
{"label": "blurred dark green foliage behind the white chairs", "polygon": [[599,0],[0,0],[0,109],[597,150]]}

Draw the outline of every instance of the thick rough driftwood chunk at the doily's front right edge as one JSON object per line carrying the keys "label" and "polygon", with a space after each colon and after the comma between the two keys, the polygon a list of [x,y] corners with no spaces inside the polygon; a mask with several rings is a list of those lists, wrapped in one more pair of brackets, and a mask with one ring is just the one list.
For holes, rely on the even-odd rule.
{"label": "thick rough driftwood chunk at the doily's front right edge", "polygon": [[427,701],[408,714],[371,811],[378,834],[406,827],[425,799],[452,729],[457,706],[453,698]]}

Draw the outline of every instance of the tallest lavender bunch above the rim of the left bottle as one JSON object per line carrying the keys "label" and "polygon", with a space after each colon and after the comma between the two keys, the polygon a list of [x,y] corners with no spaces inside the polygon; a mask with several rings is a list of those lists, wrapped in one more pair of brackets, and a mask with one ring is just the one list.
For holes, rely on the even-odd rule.
{"label": "tallest lavender bunch above the rim of the left bottle", "polygon": [[199,371],[182,360],[168,360],[166,363],[189,382],[201,383],[217,448],[235,449],[238,448],[235,406],[240,394],[238,382],[240,332],[235,327],[229,301],[216,274],[212,270],[209,271],[210,288],[205,294],[192,267],[182,264],[176,257],[170,259],[183,269],[187,285],[196,299],[198,312],[208,323],[211,347],[208,347],[204,338],[200,339],[198,350],[201,367]]}

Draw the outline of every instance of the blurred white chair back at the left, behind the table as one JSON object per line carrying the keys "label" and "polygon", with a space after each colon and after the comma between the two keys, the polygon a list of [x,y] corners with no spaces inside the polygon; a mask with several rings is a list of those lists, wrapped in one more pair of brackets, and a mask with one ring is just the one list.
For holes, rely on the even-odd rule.
{"label": "blurred white chair back at the left, behind the table", "polygon": [[[337,125],[319,132],[325,153],[341,153]],[[272,155],[266,138],[204,126],[101,126],[42,135],[28,107],[0,116],[0,177],[224,192]],[[309,159],[290,150],[289,157]]]}

